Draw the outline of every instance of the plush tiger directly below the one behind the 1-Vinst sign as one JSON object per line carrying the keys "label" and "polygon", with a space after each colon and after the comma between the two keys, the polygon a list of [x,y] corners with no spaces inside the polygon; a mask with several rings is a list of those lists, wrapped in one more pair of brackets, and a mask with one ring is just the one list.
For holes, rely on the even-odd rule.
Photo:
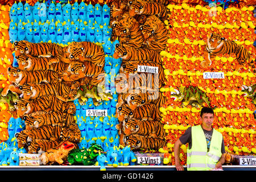
{"label": "plush tiger directly below the one behind the 1-Vinst sign", "polygon": [[158,92],[159,88],[162,87],[162,82],[159,82],[158,75],[135,73],[134,75],[125,75],[119,73],[115,79],[115,89],[117,93],[126,93],[135,88],[143,90],[155,90]]}

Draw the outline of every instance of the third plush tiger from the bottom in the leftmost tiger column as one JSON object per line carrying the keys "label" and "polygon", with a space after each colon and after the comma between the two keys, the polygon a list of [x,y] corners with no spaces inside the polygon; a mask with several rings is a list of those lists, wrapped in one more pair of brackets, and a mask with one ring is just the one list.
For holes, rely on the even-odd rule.
{"label": "third plush tiger from the bottom in the leftmost tiger column", "polygon": [[75,123],[73,114],[63,113],[62,111],[52,111],[46,114],[29,115],[23,114],[26,130],[38,128],[46,125],[70,126]]}

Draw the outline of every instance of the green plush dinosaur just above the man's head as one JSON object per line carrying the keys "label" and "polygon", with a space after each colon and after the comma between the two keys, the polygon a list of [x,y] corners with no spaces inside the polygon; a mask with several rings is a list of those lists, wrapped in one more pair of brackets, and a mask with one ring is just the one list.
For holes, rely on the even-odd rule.
{"label": "green plush dinosaur just above the man's head", "polygon": [[171,92],[175,101],[182,102],[182,106],[192,105],[195,107],[202,107],[206,102],[208,106],[212,107],[207,94],[200,90],[197,86],[181,86],[179,90],[174,89],[175,92]]}

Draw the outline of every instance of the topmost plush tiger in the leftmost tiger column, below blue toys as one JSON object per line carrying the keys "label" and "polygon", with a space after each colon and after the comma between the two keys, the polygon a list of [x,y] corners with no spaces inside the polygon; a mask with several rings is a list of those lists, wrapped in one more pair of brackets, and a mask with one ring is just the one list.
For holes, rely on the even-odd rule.
{"label": "topmost plush tiger in the leftmost tiger column, below blue toys", "polygon": [[22,54],[31,55],[34,57],[55,57],[63,55],[63,48],[55,43],[31,43],[27,40],[14,42],[15,56]]}

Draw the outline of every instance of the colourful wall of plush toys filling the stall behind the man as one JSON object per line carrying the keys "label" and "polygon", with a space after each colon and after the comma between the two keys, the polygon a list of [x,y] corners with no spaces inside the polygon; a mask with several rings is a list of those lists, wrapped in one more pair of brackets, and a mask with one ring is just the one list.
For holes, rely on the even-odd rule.
{"label": "colourful wall of plush toys filling the stall behind the man", "polygon": [[[34,165],[105,170],[135,165],[136,152],[174,165],[202,106],[229,154],[256,154],[250,1],[1,3],[0,165],[32,154]],[[240,51],[205,51],[222,37]],[[225,78],[204,77],[217,72]]]}

